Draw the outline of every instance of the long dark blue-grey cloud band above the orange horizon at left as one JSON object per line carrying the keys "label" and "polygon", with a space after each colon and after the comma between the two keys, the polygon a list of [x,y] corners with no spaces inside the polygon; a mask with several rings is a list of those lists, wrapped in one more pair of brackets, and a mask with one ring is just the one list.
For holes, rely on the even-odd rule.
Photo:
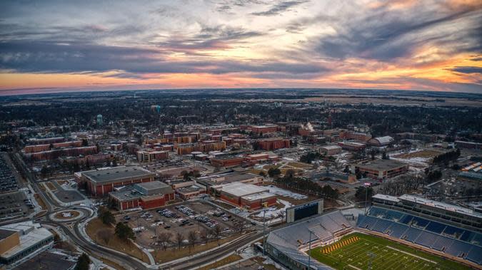
{"label": "long dark blue-grey cloud band above the orange horizon at left", "polygon": [[141,78],[144,73],[321,73],[311,63],[280,61],[168,61],[158,50],[90,43],[7,41],[0,43],[0,69],[20,73],[105,73]]}

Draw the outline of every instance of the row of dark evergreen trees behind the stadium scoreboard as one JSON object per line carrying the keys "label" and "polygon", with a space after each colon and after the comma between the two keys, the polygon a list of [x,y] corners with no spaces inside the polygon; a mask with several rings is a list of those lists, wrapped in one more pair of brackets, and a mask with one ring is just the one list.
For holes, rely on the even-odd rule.
{"label": "row of dark evergreen trees behind the stadium scoreboard", "polygon": [[321,185],[318,185],[316,182],[302,177],[296,177],[293,170],[288,170],[286,175],[278,177],[275,182],[280,187],[298,190],[318,197],[338,199],[338,189],[333,189],[330,185],[321,187]]}

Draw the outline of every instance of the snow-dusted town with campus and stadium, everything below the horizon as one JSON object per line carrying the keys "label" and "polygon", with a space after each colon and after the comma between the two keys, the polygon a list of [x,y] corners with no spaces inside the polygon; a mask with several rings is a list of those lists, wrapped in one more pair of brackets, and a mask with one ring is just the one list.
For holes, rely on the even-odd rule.
{"label": "snow-dusted town with campus and stadium, everything below the horizon", "polygon": [[482,107],[185,91],[3,98],[0,268],[481,269]]}

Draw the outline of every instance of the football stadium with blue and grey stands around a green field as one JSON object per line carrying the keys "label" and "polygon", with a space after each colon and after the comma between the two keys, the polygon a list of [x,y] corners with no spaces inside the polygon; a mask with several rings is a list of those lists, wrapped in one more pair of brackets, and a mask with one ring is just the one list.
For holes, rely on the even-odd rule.
{"label": "football stadium with blue and grey stands around a green field", "polygon": [[288,269],[482,269],[482,214],[377,194],[366,214],[336,211],[276,229],[266,252]]}

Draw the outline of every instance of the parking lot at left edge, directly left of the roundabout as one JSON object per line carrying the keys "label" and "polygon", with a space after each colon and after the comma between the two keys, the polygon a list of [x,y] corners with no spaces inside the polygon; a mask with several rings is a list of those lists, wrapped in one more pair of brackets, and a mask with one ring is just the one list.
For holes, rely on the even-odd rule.
{"label": "parking lot at left edge, directly left of the roundabout", "polygon": [[0,194],[0,219],[30,214],[34,212],[34,208],[34,204],[30,202],[24,192]]}

